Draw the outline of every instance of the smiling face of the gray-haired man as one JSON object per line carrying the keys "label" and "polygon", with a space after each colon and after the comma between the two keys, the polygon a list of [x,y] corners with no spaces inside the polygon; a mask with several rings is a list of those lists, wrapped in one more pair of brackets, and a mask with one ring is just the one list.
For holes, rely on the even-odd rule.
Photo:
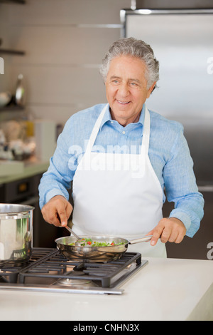
{"label": "smiling face of the gray-haired man", "polygon": [[143,103],[151,95],[155,83],[147,88],[146,64],[132,56],[111,60],[106,80],[111,118],[125,126],[137,122]]}

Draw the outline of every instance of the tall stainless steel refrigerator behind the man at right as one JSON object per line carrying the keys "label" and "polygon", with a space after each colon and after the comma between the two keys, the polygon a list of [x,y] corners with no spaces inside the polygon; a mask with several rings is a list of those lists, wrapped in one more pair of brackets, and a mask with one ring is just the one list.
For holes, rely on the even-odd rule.
{"label": "tall stainless steel refrigerator behind the man at right", "polygon": [[[184,126],[205,200],[200,230],[180,244],[168,243],[168,257],[207,259],[213,242],[213,9],[122,10],[121,21],[123,36],[140,38],[153,48],[160,80],[146,105]],[[165,202],[165,216],[172,208]]]}

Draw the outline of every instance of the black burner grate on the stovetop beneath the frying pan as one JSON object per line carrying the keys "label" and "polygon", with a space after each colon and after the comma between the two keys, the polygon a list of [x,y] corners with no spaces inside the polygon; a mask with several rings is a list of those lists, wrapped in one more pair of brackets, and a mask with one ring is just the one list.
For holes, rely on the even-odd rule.
{"label": "black burner grate on the stovetop beneath the frying pan", "polygon": [[[19,282],[27,279],[89,279],[99,287],[115,287],[119,284],[119,274],[125,272],[131,264],[137,268],[141,264],[141,254],[125,252],[120,259],[106,263],[75,262],[66,259],[58,249],[38,259],[28,267],[21,269]],[[133,270],[134,271],[134,270]],[[122,281],[127,273],[122,274]]]}

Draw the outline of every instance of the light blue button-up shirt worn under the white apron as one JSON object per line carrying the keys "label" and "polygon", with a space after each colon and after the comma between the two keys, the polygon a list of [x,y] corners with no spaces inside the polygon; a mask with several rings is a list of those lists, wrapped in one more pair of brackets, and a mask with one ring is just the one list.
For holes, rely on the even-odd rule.
{"label": "light blue button-up shirt worn under the white apron", "polygon": [[[40,180],[40,208],[55,195],[63,195],[69,199],[67,190],[70,188],[78,161],[84,154],[102,108],[104,104],[94,105],[92,108],[75,113],[67,120],[58,138],[55,153],[50,158],[50,167]],[[111,119],[108,108],[92,150],[105,153],[139,153],[143,138],[144,115],[145,105],[138,122],[123,127]],[[163,190],[163,202],[166,195],[169,202],[175,203],[170,217],[181,220],[187,229],[187,236],[192,237],[200,227],[204,200],[202,194],[198,192],[183,127],[180,123],[167,120],[151,110],[150,116],[148,155]]]}

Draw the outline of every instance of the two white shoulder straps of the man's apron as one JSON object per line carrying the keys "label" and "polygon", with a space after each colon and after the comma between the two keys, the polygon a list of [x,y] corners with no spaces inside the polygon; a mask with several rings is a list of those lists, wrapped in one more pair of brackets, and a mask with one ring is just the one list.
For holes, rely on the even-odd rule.
{"label": "two white shoulder straps of the man's apron", "polygon": [[[97,118],[97,121],[92,130],[92,134],[87,143],[87,148],[85,150],[85,153],[90,153],[92,151],[94,141],[97,138],[97,134],[99,132],[102,119],[104,118],[104,114],[106,113],[106,110],[108,107],[109,107],[109,103],[107,103],[107,105],[104,106],[104,108],[102,109],[102,112]],[[150,115],[149,115],[148,108],[145,106],[145,117],[144,117],[144,124],[143,124],[143,140],[142,140],[142,145],[141,145],[141,154],[143,153],[148,154],[149,138],[150,138]]]}

